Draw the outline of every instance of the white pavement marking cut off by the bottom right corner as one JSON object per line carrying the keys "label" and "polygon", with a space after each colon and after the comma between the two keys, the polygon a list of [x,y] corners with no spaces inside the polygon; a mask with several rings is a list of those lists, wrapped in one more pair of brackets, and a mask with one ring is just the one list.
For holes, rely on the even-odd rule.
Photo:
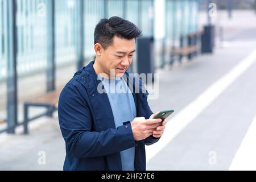
{"label": "white pavement marking cut off by the bottom right corner", "polygon": [[256,115],[229,167],[229,170],[256,170]]}

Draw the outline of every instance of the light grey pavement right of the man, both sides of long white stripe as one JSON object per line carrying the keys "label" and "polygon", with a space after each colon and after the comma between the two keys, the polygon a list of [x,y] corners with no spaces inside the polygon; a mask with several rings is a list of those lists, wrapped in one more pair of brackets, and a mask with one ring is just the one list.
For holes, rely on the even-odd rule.
{"label": "light grey pavement right of the man, both sides of long white stripe", "polygon": [[[171,88],[164,88],[160,93],[170,96],[170,101],[166,99],[159,105],[171,107],[176,114],[183,112],[183,109],[201,97],[209,86],[241,63],[255,46],[254,43],[254,46],[251,45],[249,48],[247,43],[233,42],[229,48],[218,49],[211,57],[200,57],[194,64],[181,69],[179,73],[176,71],[164,73],[171,80],[169,82]],[[228,170],[256,113],[254,94],[256,81],[251,79],[256,77],[255,69],[254,63],[213,101],[205,98],[201,104],[209,102],[209,105],[200,110],[195,117],[193,114],[198,112],[198,107],[192,107],[191,111],[187,112],[188,115],[180,116],[179,118],[190,120],[184,128],[180,129],[180,123],[176,122],[176,115],[174,115],[174,119],[170,119],[167,127],[176,128],[179,131],[174,131],[177,134],[172,140],[151,157],[147,163],[147,169]],[[159,99],[164,100],[164,98]],[[155,101],[150,104],[153,105],[152,108],[158,109],[154,107]],[[172,122],[174,120],[175,122]],[[187,122],[180,119],[179,121]],[[171,133],[166,134],[166,138],[169,139],[170,136],[172,136]],[[155,147],[159,148],[157,145]],[[147,148],[147,151],[153,150],[153,146]],[[209,162],[212,159],[216,159],[216,163]]]}

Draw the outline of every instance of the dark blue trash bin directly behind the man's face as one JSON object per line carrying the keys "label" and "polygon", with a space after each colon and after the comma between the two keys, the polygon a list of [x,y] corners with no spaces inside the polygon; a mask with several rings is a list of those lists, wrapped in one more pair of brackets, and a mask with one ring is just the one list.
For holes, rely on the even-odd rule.
{"label": "dark blue trash bin directly behind the man's face", "polygon": [[154,81],[154,38],[141,37],[137,39],[137,68],[139,74],[145,73],[147,76],[148,73],[152,73],[152,81]]}

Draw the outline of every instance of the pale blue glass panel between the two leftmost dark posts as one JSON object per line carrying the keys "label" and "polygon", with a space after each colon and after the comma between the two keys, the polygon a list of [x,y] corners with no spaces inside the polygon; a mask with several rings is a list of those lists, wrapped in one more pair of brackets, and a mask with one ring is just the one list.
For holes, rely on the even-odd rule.
{"label": "pale blue glass panel between the two leftmost dark posts", "polygon": [[36,11],[31,11],[26,7],[35,8],[32,5],[36,2],[39,12],[45,11],[44,1],[17,1],[18,10],[20,10],[16,12],[17,72],[19,76],[46,69],[46,17],[43,14],[36,14]]}

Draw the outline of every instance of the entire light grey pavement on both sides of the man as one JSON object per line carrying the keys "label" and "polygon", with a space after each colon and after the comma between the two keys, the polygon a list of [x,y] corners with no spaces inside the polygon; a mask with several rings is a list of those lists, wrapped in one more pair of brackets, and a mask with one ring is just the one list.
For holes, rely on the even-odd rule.
{"label": "entire light grey pavement on both sides of the man", "polygon": [[[243,22],[243,18],[238,20]],[[256,48],[255,23],[243,27],[245,21],[242,28],[234,27],[239,25],[237,21],[234,19],[225,28],[226,33],[231,32],[226,34],[225,42],[212,55],[200,55],[192,61],[175,65],[174,68],[158,71],[159,98],[149,100],[148,103],[152,111],[175,110],[167,127],[176,127],[174,119],[184,108]],[[70,70],[67,71],[68,74],[73,75],[75,71],[72,71],[73,68]],[[237,151],[245,151],[242,148],[248,146],[247,142],[241,143],[244,143],[242,141],[247,136],[247,130],[256,114],[255,70],[254,63],[194,119],[191,118],[188,125],[177,131],[177,135],[167,146],[147,159],[147,169],[228,170],[233,159],[242,161],[246,156]],[[60,73],[57,73],[59,76],[56,80],[60,79]],[[58,85],[61,84],[63,82]],[[0,170],[62,170],[65,143],[60,133],[57,113],[55,112],[53,118],[36,119],[29,127],[30,135],[27,136],[22,134],[22,127],[18,127],[16,135],[0,134]],[[170,134],[166,136],[168,135]],[[154,145],[150,147],[154,150]],[[148,150],[147,147],[147,153]],[[38,163],[38,160],[42,159],[42,155],[38,155],[40,151],[46,154],[45,165]]]}

